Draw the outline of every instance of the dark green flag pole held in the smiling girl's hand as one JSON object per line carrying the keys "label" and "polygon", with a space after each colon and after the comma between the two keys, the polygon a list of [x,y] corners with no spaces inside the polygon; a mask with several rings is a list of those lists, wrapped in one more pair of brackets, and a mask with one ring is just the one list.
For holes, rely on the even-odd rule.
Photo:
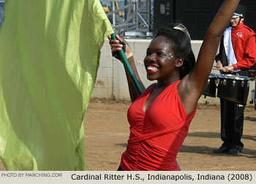
{"label": "dark green flag pole held in the smiling girl's hand", "polygon": [[[116,39],[116,34],[111,34],[112,39]],[[141,95],[143,93],[143,89],[140,86],[140,83],[138,79],[135,76],[135,73],[132,70],[132,66],[129,64],[129,61],[127,59],[127,56],[124,54],[124,50],[118,50],[118,54],[120,55],[121,59],[124,62],[124,67],[127,69],[127,72],[129,73],[129,77],[132,79],[133,85],[135,85],[136,91]]]}

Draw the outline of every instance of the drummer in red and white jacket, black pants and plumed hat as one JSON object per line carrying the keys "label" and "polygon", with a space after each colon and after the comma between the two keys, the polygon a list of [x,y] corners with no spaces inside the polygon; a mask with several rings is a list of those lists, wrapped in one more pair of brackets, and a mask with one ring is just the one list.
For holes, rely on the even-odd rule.
{"label": "drummer in red and white jacket, black pants and plumed hat", "polygon": [[[217,68],[222,73],[233,71],[236,75],[248,75],[256,60],[256,34],[251,28],[244,25],[246,7],[239,5],[231,26],[223,34],[216,57]],[[223,144],[214,149],[214,153],[239,154],[244,147],[241,142],[244,126],[245,105],[233,101],[220,99],[221,109],[221,138]]]}

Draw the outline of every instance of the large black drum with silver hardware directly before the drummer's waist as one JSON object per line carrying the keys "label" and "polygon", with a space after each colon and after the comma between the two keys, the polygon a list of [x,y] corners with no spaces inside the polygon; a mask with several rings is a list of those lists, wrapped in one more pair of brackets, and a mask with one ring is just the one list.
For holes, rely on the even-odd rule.
{"label": "large black drum with silver hardware directly before the drummer's waist", "polygon": [[250,78],[245,76],[219,74],[217,96],[238,104],[246,104],[249,93],[249,80]]}

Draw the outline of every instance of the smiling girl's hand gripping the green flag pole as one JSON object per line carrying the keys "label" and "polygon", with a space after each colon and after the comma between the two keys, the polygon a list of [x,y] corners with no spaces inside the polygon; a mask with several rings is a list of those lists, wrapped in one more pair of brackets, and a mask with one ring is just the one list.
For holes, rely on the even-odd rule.
{"label": "smiling girl's hand gripping the green flag pole", "polygon": [[118,51],[120,50],[124,50],[125,55],[127,56],[127,59],[129,60],[129,58],[131,58],[133,56],[132,54],[132,50],[130,49],[128,43],[124,40],[121,39],[121,37],[119,37],[118,35],[116,35],[116,39],[111,39],[111,36],[108,36],[109,39],[109,45],[111,48],[111,53],[113,55],[113,57],[117,58],[118,60],[120,60],[121,62],[123,62],[121,60],[120,55],[118,54]]}

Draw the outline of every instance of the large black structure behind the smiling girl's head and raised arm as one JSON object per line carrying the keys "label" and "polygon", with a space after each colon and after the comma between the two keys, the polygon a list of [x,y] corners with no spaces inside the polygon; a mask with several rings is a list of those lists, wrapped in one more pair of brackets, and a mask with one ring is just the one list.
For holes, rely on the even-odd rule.
{"label": "large black structure behind the smiling girl's head and raised arm", "polygon": [[[204,39],[208,26],[214,19],[224,0],[155,0],[154,32],[157,28],[167,26],[173,20],[181,20],[187,27],[192,39]],[[247,7],[245,24],[256,31],[256,2],[241,0]]]}

